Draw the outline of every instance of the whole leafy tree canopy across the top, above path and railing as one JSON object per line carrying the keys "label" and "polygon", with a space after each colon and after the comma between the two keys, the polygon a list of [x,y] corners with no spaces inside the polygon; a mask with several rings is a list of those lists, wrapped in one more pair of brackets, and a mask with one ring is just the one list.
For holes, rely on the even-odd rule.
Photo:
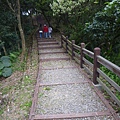
{"label": "whole leafy tree canopy across the top, above path and railing", "polygon": [[[15,0],[0,3],[1,55],[21,47]],[[10,4],[8,4],[10,3]],[[42,15],[54,30],[59,29],[76,44],[86,43],[93,50],[102,48],[105,56],[118,55],[120,48],[120,0],[20,0],[21,25],[25,38],[30,33],[32,16]],[[107,52],[106,52],[107,51]]]}

